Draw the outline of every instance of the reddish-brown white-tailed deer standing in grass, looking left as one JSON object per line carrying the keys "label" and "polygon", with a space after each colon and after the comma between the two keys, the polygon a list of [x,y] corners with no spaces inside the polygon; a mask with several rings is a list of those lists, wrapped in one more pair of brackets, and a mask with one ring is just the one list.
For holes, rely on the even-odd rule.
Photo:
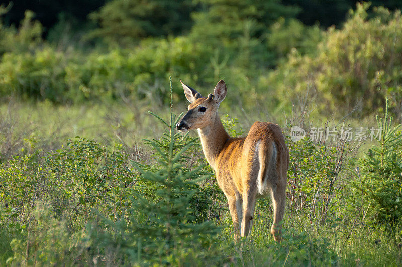
{"label": "reddish-brown white-tailed deer standing in grass, looking left", "polygon": [[281,128],[255,122],[247,136],[231,138],[218,115],[219,104],[227,93],[225,82],[218,82],[214,94],[208,97],[181,84],[191,104],[176,128],[182,132],[198,129],[205,157],[229,201],[235,240],[251,231],[255,199],[270,194],[274,213],[271,233],[280,242],[289,167],[289,150]]}

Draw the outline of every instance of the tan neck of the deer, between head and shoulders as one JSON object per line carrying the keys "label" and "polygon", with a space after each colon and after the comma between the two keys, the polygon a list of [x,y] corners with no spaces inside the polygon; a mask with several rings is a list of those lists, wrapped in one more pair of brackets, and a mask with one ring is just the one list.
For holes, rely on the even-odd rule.
{"label": "tan neck of the deer, between head and shoulders", "polygon": [[216,159],[223,145],[228,140],[229,135],[225,131],[218,112],[213,118],[213,123],[209,126],[198,129],[198,135],[203,146],[204,155],[208,163],[215,169]]}

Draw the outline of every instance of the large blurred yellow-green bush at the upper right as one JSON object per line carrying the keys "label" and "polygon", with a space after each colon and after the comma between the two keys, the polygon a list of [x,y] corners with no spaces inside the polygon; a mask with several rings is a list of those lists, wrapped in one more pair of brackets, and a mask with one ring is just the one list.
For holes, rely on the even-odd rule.
{"label": "large blurred yellow-green bush at the upper right", "polygon": [[292,88],[292,102],[317,95],[320,110],[335,110],[335,106],[352,110],[357,104],[367,114],[380,109],[382,99],[389,96],[391,110],[400,114],[400,11],[378,8],[368,19],[368,7],[367,3],[358,4],[342,29],[329,28],[316,54],[303,56],[293,51],[287,62],[269,75],[267,84],[276,87],[278,95]]}

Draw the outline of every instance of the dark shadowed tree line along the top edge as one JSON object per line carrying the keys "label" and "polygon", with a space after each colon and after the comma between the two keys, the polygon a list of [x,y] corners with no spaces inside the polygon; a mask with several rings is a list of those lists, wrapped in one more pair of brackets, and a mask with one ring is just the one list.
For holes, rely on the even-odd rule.
{"label": "dark shadowed tree line along the top edge", "polygon": [[[2,21],[6,25],[18,25],[24,18],[26,10],[35,13],[48,33],[62,18],[73,22],[74,27],[92,22],[101,29],[98,34],[114,34],[114,27],[123,29],[123,34],[148,36],[165,36],[181,34],[194,24],[194,16],[206,13],[211,16],[220,10],[238,11],[239,19],[248,16],[247,12],[264,13],[257,21],[274,20],[279,16],[295,16],[305,25],[319,23],[321,27],[339,26],[346,18],[348,10],[356,6],[354,0],[271,0],[271,1],[237,1],[237,0],[14,0],[0,1],[4,6],[11,5]],[[256,3],[256,5],[254,5]],[[402,7],[400,0],[373,0],[372,6],[384,6],[390,10]],[[245,8],[254,5],[258,10]],[[10,6],[9,6],[10,7]],[[215,9],[214,9],[215,8]],[[212,12],[211,12],[212,10]],[[251,16],[253,19],[253,15]],[[213,19],[213,18],[212,18]],[[236,19],[232,16],[231,19]],[[113,27],[111,27],[113,25]],[[260,25],[261,26],[261,25]],[[93,26],[95,27],[95,26]]]}

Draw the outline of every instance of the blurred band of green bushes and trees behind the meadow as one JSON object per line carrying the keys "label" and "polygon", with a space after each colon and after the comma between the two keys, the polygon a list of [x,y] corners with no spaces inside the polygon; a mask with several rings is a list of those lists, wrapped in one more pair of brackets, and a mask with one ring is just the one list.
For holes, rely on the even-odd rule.
{"label": "blurred band of green bushes and trees behind the meadow", "polygon": [[[141,15],[141,6],[143,11],[170,17],[162,19],[146,12]],[[119,17],[127,22],[128,31],[122,23],[116,23],[114,16],[102,15],[110,19],[110,39],[118,39],[110,41],[115,45],[107,52],[73,45],[61,45],[65,50],[56,48],[42,40],[43,27],[27,12],[18,30],[1,24],[0,93],[55,103],[128,97],[162,104],[169,98],[168,86],[163,84],[169,73],[194,87],[205,88],[230,77],[228,86],[238,93],[228,94],[228,99],[246,110],[252,110],[256,103],[265,113],[279,108],[290,110],[291,103],[316,96],[319,112],[326,111],[327,106],[350,111],[357,105],[362,114],[367,114],[380,110],[381,99],[388,96],[390,111],[402,114],[399,11],[374,8],[369,16],[368,5],[359,4],[341,29],[323,32],[317,25],[308,27],[292,18],[297,9],[276,0],[202,1],[195,6],[156,0],[107,3],[94,14],[101,16],[107,11],[131,18]],[[7,8],[2,7],[4,14]],[[163,12],[166,9],[169,12]],[[140,28],[152,24],[160,31],[165,30],[152,20],[166,22],[163,25],[170,29],[175,26],[169,23],[191,25],[171,15],[174,11],[182,18],[182,14],[191,13],[187,9],[196,10],[195,25],[188,36],[141,37],[130,50],[118,45],[126,42],[122,36],[135,39],[128,34],[134,32],[131,24]],[[276,64],[279,66],[275,71],[268,69]],[[184,100],[179,89],[175,89],[174,98]]]}

